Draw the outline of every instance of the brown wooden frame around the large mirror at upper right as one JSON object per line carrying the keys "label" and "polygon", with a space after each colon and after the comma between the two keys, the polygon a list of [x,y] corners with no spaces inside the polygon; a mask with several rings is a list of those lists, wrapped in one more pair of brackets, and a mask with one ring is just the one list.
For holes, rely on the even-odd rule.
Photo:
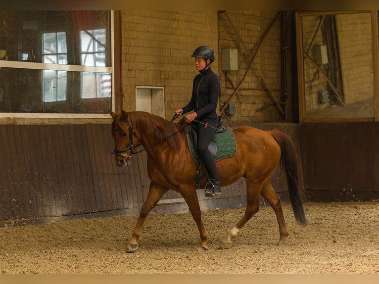
{"label": "brown wooden frame around the large mirror at upper right", "polygon": [[[373,58],[373,87],[374,87],[374,117],[346,117],[346,118],[306,118],[305,117],[305,82],[304,82],[304,50],[302,16],[308,15],[338,15],[348,13],[371,12],[372,30],[372,58]],[[298,79],[298,100],[299,100],[299,122],[378,122],[379,121],[379,31],[378,31],[378,11],[298,11],[295,12],[296,23],[296,50],[297,50],[297,79]]]}

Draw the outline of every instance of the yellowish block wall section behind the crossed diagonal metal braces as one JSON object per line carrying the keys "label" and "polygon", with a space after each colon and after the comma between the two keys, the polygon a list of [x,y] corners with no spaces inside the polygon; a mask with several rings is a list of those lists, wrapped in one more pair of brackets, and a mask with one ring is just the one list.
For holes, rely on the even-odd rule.
{"label": "yellowish block wall section behind the crossed diagonal metal braces", "polygon": [[[236,36],[230,21],[224,13],[219,14],[219,48],[238,49],[238,71],[220,73],[221,100],[225,102],[233,94],[233,87],[237,87],[244,76],[252,55],[258,48],[262,36],[271,24],[276,11],[254,10],[228,10],[229,18],[236,27],[240,38]],[[242,43],[243,42],[243,43]],[[245,50],[244,46],[248,49]],[[264,105],[272,103],[267,91],[263,90],[262,72],[269,88],[278,101],[281,100],[281,21],[278,20],[270,30],[263,45],[259,49],[250,70],[247,72],[238,94],[231,102],[237,103],[236,115],[230,116],[232,122],[266,122],[280,119],[280,113],[275,105],[269,105],[260,110]],[[222,62],[221,62],[222,66]]]}

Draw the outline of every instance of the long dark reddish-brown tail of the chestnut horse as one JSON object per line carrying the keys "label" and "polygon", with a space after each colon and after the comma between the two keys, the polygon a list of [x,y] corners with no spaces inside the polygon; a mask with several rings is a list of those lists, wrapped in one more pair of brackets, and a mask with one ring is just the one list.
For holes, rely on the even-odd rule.
{"label": "long dark reddish-brown tail of the chestnut horse", "polygon": [[296,148],[290,138],[278,130],[271,131],[271,135],[281,148],[281,169],[287,176],[289,198],[296,221],[301,225],[307,225],[302,204],[302,192],[299,190],[299,169]]}

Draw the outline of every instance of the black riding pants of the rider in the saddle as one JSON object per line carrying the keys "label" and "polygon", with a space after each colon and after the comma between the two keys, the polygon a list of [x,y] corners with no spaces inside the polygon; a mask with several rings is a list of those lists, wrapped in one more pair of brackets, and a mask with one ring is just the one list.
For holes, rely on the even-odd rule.
{"label": "black riding pants of the rider in the saddle", "polygon": [[[197,137],[197,151],[200,159],[203,162],[205,170],[207,171],[209,180],[214,185],[220,184],[220,179],[216,169],[216,163],[212,157],[211,152],[208,150],[208,145],[213,139],[218,124],[218,117],[216,118],[203,118],[199,120],[202,123],[197,123],[198,137]],[[205,127],[204,124],[208,123]]]}

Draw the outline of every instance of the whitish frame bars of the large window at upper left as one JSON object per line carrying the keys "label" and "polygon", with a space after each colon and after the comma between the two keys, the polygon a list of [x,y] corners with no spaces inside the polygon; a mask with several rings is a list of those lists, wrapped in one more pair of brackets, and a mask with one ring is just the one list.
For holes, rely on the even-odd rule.
{"label": "whitish frame bars of the large window at upper left", "polygon": [[[9,61],[0,60],[0,67],[5,68],[18,68],[18,69],[34,69],[34,70],[54,70],[54,71],[73,71],[73,72],[91,72],[91,73],[110,73],[111,74],[111,110],[115,110],[115,25],[114,25],[114,10],[110,10],[110,66],[97,67],[97,66],[82,66],[82,65],[62,65],[52,63],[40,62],[26,62],[26,61]],[[102,119],[109,118],[107,113],[22,113],[22,112],[0,112],[1,119],[17,119],[17,118],[31,118],[31,119],[45,119],[45,118],[85,118],[85,119]],[[38,120],[37,120],[38,121]]]}

